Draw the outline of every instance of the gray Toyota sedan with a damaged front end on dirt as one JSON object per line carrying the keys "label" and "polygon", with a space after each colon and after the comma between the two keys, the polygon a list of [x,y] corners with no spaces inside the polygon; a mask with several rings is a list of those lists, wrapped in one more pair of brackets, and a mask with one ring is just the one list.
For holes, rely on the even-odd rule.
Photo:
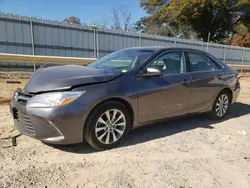
{"label": "gray Toyota sedan with a damaged front end on dirt", "polygon": [[39,68],[10,110],[25,135],[53,144],[85,139],[102,150],[141,124],[193,113],[221,119],[239,92],[239,74],[206,52],[129,48],[88,66]]}

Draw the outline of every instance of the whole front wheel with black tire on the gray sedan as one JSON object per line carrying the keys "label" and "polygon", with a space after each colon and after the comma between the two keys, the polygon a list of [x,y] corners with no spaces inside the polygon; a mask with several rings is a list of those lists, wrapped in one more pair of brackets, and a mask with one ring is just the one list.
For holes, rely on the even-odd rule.
{"label": "whole front wheel with black tire on the gray sedan", "polygon": [[128,109],[122,103],[108,101],[97,106],[89,115],[84,138],[98,150],[112,149],[124,140],[131,126]]}

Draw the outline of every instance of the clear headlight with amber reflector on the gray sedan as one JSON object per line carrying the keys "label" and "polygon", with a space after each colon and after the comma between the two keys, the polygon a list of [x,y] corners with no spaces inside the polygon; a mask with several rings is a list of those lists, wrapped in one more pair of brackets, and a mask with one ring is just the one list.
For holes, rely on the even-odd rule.
{"label": "clear headlight with amber reflector on the gray sedan", "polygon": [[49,108],[56,106],[63,106],[71,103],[78,97],[83,95],[86,91],[82,92],[53,92],[35,95],[28,103],[31,108]]}

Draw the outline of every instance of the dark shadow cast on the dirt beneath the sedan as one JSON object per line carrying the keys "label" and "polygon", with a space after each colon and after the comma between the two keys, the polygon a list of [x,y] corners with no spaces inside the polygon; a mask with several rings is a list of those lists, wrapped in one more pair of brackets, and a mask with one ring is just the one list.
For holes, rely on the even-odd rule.
{"label": "dark shadow cast on the dirt beneath the sedan", "polygon": [[[230,107],[230,110],[225,116],[225,118],[220,121],[211,120],[207,116],[200,114],[178,117],[171,120],[162,121],[160,123],[151,123],[132,130],[120,147],[132,146],[196,128],[213,129],[213,126],[215,126],[217,123],[221,123],[223,121],[241,117],[247,114],[250,114],[250,105],[243,103],[235,103]],[[50,146],[59,150],[72,153],[88,154],[98,152],[96,149],[89,146],[85,141],[81,144],[75,145]]]}

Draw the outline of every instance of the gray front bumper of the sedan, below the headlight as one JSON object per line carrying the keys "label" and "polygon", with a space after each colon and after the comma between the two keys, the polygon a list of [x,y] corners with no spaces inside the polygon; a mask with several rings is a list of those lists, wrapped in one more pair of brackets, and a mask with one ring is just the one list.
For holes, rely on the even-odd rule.
{"label": "gray front bumper of the sedan, below the headlight", "polygon": [[22,134],[52,144],[83,141],[83,127],[90,109],[77,101],[61,107],[31,108],[23,101],[12,100],[10,111],[14,125]]}

